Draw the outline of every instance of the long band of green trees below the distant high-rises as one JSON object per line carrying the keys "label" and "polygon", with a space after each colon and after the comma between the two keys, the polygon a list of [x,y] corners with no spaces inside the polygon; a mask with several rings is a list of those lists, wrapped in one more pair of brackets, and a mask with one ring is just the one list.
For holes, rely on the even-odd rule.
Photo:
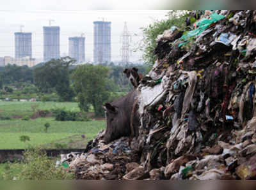
{"label": "long band of green trees below the distant high-rises", "polygon": [[[81,111],[88,112],[92,105],[95,117],[104,115],[102,105],[106,101],[112,101],[132,89],[123,70],[134,65],[74,66],[74,62],[70,57],[61,57],[35,68],[9,64],[0,68],[0,87],[7,89],[9,86],[20,87],[24,83],[33,84],[38,93],[55,92],[60,101],[77,101]],[[147,73],[147,66],[136,66],[141,73]]]}

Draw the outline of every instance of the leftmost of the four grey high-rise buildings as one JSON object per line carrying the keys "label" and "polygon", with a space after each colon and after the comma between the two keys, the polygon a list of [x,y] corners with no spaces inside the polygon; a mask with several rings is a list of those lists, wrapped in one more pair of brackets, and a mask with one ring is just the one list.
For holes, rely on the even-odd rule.
{"label": "leftmost of the four grey high-rise buildings", "polygon": [[31,33],[14,33],[15,34],[15,58],[32,56]]}

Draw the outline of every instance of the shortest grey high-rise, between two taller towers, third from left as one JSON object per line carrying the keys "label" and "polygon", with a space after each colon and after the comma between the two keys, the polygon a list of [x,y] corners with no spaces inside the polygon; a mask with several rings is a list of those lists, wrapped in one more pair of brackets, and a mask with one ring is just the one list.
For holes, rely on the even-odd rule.
{"label": "shortest grey high-rise, between two taller towers, third from left", "polygon": [[84,62],[84,37],[71,37],[68,38],[68,55],[76,59],[76,62]]}

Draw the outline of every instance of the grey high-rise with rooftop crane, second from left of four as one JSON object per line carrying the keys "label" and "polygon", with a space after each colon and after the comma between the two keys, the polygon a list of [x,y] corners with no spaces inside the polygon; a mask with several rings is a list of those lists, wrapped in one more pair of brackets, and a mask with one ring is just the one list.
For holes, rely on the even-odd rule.
{"label": "grey high-rise with rooftop crane, second from left of four", "polygon": [[44,61],[60,58],[60,27],[44,26]]}

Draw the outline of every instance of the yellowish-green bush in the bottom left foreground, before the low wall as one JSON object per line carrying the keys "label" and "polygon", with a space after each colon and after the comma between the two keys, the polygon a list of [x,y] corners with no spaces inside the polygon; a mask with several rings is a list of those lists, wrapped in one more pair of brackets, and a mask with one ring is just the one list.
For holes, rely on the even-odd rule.
{"label": "yellowish-green bush in the bottom left foreground, before the low wall", "polygon": [[[10,164],[10,168],[17,164]],[[20,164],[20,172],[16,173],[17,180],[60,180],[74,179],[74,174],[63,167],[55,168],[55,163],[40,149],[26,150],[24,163]],[[12,174],[12,173],[11,173]],[[13,175],[4,175],[4,179],[13,179]]]}

